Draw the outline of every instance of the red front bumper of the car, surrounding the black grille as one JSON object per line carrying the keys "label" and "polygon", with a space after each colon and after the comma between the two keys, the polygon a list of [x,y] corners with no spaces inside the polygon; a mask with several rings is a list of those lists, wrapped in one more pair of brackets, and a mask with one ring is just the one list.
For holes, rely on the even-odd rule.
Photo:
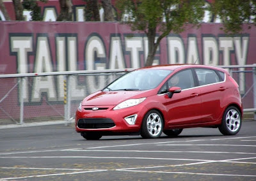
{"label": "red front bumper of the car, surrounding the black grille", "polygon": [[[114,106],[82,106],[76,112],[76,131],[101,133],[138,133],[141,122],[147,110],[142,105],[136,105],[120,110],[113,110]],[[128,124],[125,117],[136,115],[135,124]]]}

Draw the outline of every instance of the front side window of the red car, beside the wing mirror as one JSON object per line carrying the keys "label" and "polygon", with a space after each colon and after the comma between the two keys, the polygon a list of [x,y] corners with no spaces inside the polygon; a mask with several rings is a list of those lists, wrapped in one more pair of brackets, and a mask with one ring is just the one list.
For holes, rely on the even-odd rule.
{"label": "front side window of the red car, beside the wing mirror", "polygon": [[168,80],[168,87],[180,87],[181,89],[195,87],[192,70],[186,69],[173,75]]}

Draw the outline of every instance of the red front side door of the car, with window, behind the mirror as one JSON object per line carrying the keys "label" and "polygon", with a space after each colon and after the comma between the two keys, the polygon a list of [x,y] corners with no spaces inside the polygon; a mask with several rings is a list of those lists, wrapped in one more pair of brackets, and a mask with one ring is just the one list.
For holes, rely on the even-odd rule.
{"label": "red front side door of the car, with window, behind the mirror", "polygon": [[179,71],[166,83],[169,88],[175,86],[182,89],[180,93],[173,94],[172,98],[166,96],[167,116],[165,119],[168,127],[200,122],[202,118],[200,89],[195,87],[195,76],[193,76],[192,69]]}

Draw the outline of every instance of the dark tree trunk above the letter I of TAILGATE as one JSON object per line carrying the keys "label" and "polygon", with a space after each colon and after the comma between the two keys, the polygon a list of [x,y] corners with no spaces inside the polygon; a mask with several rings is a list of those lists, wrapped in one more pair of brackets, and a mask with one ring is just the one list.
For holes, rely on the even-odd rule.
{"label": "dark tree trunk above the letter I of TAILGATE", "polygon": [[60,15],[57,21],[72,21],[72,2],[71,0],[59,0]]}

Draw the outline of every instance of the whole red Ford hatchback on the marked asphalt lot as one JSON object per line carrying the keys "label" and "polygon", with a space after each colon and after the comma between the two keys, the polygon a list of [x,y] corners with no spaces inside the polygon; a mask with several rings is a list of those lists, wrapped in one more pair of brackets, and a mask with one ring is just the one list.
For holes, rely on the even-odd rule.
{"label": "whole red Ford hatchback on the marked asphalt lot", "polygon": [[228,71],[202,65],[140,68],[83,99],[76,131],[87,140],[104,135],[177,136],[188,127],[241,128],[243,105]]}

